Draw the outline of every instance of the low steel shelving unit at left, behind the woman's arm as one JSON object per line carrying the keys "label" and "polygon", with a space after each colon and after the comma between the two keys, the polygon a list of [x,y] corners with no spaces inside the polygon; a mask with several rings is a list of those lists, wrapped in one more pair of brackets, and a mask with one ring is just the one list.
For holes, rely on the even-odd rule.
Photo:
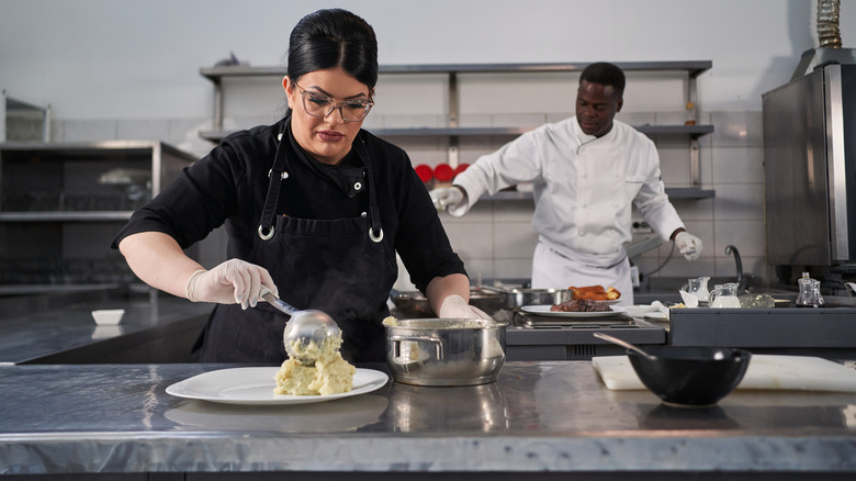
{"label": "low steel shelving unit at left, behind the woman's arm", "polygon": [[111,242],[196,159],[158,141],[0,144],[0,287],[138,282]]}

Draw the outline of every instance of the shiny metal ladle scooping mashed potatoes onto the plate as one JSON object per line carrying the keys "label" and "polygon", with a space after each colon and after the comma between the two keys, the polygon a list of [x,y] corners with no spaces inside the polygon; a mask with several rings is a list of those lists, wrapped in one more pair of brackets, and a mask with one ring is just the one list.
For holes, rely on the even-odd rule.
{"label": "shiny metal ladle scooping mashed potatoes onto the plate", "polygon": [[315,359],[297,356],[292,347],[295,340],[300,340],[304,347],[312,343],[320,346],[327,337],[341,335],[339,325],[325,312],[312,309],[306,311],[297,310],[274,295],[266,287],[261,288],[260,295],[270,305],[291,316],[291,320],[285,324],[285,331],[282,333],[282,340],[285,343],[285,351],[289,353],[289,356],[296,358],[304,365],[312,365]]}

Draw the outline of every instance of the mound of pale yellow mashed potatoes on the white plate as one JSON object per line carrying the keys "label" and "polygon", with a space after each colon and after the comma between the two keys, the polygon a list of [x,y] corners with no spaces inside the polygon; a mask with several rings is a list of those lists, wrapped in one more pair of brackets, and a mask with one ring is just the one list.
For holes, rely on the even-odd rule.
{"label": "mound of pale yellow mashed potatoes on the white plate", "polygon": [[275,394],[328,395],[348,392],[353,388],[357,369],[342,359],[339,347],[341,336],[328,337],[318,346],[300,342],[292,344],[297,358],[314,361],[306,366],[295,358],[288,359],[273,377],[277,380]]}

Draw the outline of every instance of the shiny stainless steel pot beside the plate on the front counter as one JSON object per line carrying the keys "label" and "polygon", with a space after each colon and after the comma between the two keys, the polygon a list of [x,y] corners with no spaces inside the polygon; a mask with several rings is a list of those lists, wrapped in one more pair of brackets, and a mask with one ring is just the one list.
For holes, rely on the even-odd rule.
{"label": "shiny stainless steel pot beside the plate on the front counter", "polygon": [[475,385],[496,381],[505,362],[505,323],[410,318],[386,325],[386,361],[405,384]]}

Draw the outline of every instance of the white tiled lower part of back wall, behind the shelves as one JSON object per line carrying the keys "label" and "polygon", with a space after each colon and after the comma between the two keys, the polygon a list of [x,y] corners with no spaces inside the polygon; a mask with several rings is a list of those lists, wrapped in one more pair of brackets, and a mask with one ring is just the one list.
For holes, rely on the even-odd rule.
{"label": "white tiled lower part of back wall, behind the shelves", "polygon": [[[443,81],[442,76],[382,78],[378,87],[378,108],[367,120],[365,127],[444,126],[448,99],[441,88]],[[536,76],[534,80],[485,77],[480,81],[461,85],[461,126],[537,126],[572,115],[576,88],[573,77],[561,81],[549,76]],[[270,123],[281,115],[282,103],[273,100],[278,99],[275,91],[281,91],[278,90],[281,87],[264,88],[270,90],[250,96],[255,101],[250,98],[238,102],[234,92],[227,96],[236,104],[240,103],[240,108],[229,110],[229,104],[226,105],[226,128]],[[679,79],[669,75],[662,79],[654,74],[629,75],[624,109],[618,119],[633,125],[683,123],[685,88]],[[641,257],[640,271],[647,273],[662,266],[652,277],[735,276],[734,259],[724,254],[725,246],[734,245],[742,256],[744,272],[756,275],[756,283],[763,283],[768,279],[768,269],[764,239],[762,113],[703,112],[703,105],[700,108],[700,123],[714,126],[713,134],[699,139],[701,187],[714,190],[716,198],[677,199],[673,203],[688,231],[701,238],[703,251],[700,259],[689,262],[678,253],[669,258],[671,244],[664,244]],[[254,112],[258,114],[252,115]],[[200,138],[199,131],[210,128],[211,119],[205,118],[56,120],[53,139],[161,139],[202,156],[212,144]],[[460,139],[460,159],[472,163],[510,138],[463,137]],[[447,138],[396,137],[391,141],[408,152],[414,165],[447,161]],[[654,142],[661,153],[666,187],[688,187],[688,139],[661,135],[655,136]],[[444,213],[441,217],[453,247],[473,278],[481,275],[483,278],[526,279],[531,275],[531,255],[537,242],[530,224],[531,212],[531,200],[482,201],[463,219],[452,219]]]}

